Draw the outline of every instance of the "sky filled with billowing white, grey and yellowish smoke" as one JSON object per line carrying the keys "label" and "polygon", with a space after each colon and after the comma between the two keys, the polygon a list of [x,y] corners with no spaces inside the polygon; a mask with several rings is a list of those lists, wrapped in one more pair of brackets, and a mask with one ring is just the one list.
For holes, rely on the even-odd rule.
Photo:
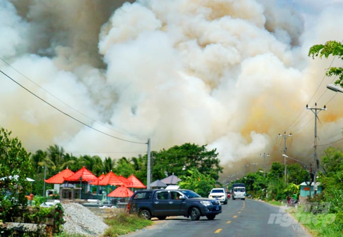
{"label": "sky filled with billowing white, grey and yellowish smoke", "polygon": [[2,0],[0,126],[31,153],[207,145],[221,179],[285,147],[310,165],[315,143],[318,157],[343,143],[343,94],[325,76],[341,60],[308,56],[341,25],[337,0]]}

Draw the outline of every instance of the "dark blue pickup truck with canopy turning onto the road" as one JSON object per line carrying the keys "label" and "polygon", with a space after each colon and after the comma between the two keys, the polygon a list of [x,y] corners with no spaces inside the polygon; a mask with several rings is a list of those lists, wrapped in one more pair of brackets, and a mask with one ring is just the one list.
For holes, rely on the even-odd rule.
{"label": "dark blue pickup truck with canopy turning onto the road", "polygon": [[128,210],[148,220],[151,217],[163,220],[167,216],[186,216],[192,220],[206,216],[213,220],[221,213],[221,205],[191,190],[138,190],[130,198]]}

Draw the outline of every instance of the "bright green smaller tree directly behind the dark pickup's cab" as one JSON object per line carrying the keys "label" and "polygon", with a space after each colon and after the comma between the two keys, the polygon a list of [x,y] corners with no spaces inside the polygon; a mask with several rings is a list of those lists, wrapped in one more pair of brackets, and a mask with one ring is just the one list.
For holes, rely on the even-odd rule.
{"label": "bright green smaller tree directly behind the dark pickup's cab", "polygon": [[190,189],[201,197],[207,197],[215,185],[215,180],[210,174],[203,174],[197,168],[188,169],[188,175],[181,175],[178,185],[181,189]]}

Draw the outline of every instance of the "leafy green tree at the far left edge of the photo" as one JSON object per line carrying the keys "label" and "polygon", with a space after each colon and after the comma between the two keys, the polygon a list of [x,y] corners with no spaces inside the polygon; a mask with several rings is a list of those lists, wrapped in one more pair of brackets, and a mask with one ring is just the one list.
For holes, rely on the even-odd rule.
{"label": "leafy green tree at the far left edge of the photo", "polygon": [[11,138],[10,135],[11,132],[0,128],[0,221],[8,221],[20,207],[26,207],[25,196],[31,191],[31,185],[26,180],[32,173],[30,154],[18,138]]}

